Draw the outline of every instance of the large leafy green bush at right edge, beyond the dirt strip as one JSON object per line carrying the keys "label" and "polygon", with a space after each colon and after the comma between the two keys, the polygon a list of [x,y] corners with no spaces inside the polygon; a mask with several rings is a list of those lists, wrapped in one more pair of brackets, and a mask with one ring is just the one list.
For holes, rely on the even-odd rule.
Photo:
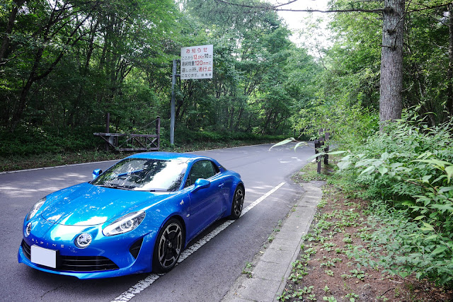
{"label": "large leafy green bush at right edge, beyond the dirt strip", "polygon": [[366,188],[382,209],[377,233],[387,249],[381,265],[406,277],[414,272],[453,284],[453,127],[428,127],[416,117],[389,124],[338,166]]}

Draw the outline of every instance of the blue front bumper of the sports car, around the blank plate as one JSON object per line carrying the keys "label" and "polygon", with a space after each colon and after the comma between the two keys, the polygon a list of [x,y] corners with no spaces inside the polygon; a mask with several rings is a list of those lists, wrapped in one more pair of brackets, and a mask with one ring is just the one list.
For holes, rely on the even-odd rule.
{"label": "blue front bumper of the sports car, around the blank plate", "polygon": [[[145,234],[134,230],[119,236],[108,237],[103,236],[102,232],[98,232],[93,243],[85,249],[76,248],[74,245],[75,234],[67,232],[68,229],[71,229],[70,227],[59,228],[59,231],[53,233],[65,233],[65,238],[38,237],[33,236],[33,233],[28,237],[24,236],[18,250],[18,262],[42,272],[74,276],[79,279],[99,279],[151,272],[157,228]],[[80,231],[78,230],[76,233],[80,233]],[[55,250],[56,267],[47,267],[32,262],[30,257],[32,245]]]}

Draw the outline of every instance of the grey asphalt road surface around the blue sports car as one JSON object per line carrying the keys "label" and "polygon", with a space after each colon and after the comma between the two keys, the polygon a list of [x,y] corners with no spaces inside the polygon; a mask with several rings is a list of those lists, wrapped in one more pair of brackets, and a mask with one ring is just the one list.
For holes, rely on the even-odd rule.
{"label": "grey asphalt road surface around the blue sports car", "polygon": [[[270,146],[197,152],[241,174],[246,185],[244,208],[281,182],[285,185],[130,301],[220,301],[224,297],[302,193],[289,177],[314,153],[306,146],[296,151],[290,149],[292,145],[268,151]],[[105,170],[112,164],[87,163],[0,174],[0,301],[113,301],[149,275],[79,280],[18,264],[22,223],[32,205],[50,192],[91,180],[94,169]]]}

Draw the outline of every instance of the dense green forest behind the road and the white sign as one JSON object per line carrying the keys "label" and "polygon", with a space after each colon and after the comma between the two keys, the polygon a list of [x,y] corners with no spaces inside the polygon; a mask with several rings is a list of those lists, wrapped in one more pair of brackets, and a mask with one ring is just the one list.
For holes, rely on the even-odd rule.
{"label": "dense green forest behind the road and the white sign", "polygon": [[[191,45],[214,45],[214,78],[178,80],[177,143],[306,138],[320,127],[360,140],[378,127],[379,11],[331,14],[332,46],[314,45],[313,57],[264,2],[2,2],[1,156],[95,149],[101,140],[93,132],[104,132],[107,112],[110,131],[120,133],[154,132],[162,117],[165,145],[171,60]],[[403,107],[418,105],[432,125],[453,110],[452,16],[440,2],[411,1],[404,18]],[[329,3],[331,10],[383,5]],[[307,22],[305,34],[316,34],[320,22]]]}

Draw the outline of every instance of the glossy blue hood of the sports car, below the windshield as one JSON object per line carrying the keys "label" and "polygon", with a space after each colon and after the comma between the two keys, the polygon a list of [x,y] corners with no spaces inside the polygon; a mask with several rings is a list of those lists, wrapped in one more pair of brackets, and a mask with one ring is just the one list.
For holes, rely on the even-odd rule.
{"label": "glossy blue hood of the sports car, below the windshield", "polygon": [[67,226],[93,226],[142,210],[145,202],[151,205],[166,197],[167,192],[120,190],[85,182],[48,195],[41,216]]}

